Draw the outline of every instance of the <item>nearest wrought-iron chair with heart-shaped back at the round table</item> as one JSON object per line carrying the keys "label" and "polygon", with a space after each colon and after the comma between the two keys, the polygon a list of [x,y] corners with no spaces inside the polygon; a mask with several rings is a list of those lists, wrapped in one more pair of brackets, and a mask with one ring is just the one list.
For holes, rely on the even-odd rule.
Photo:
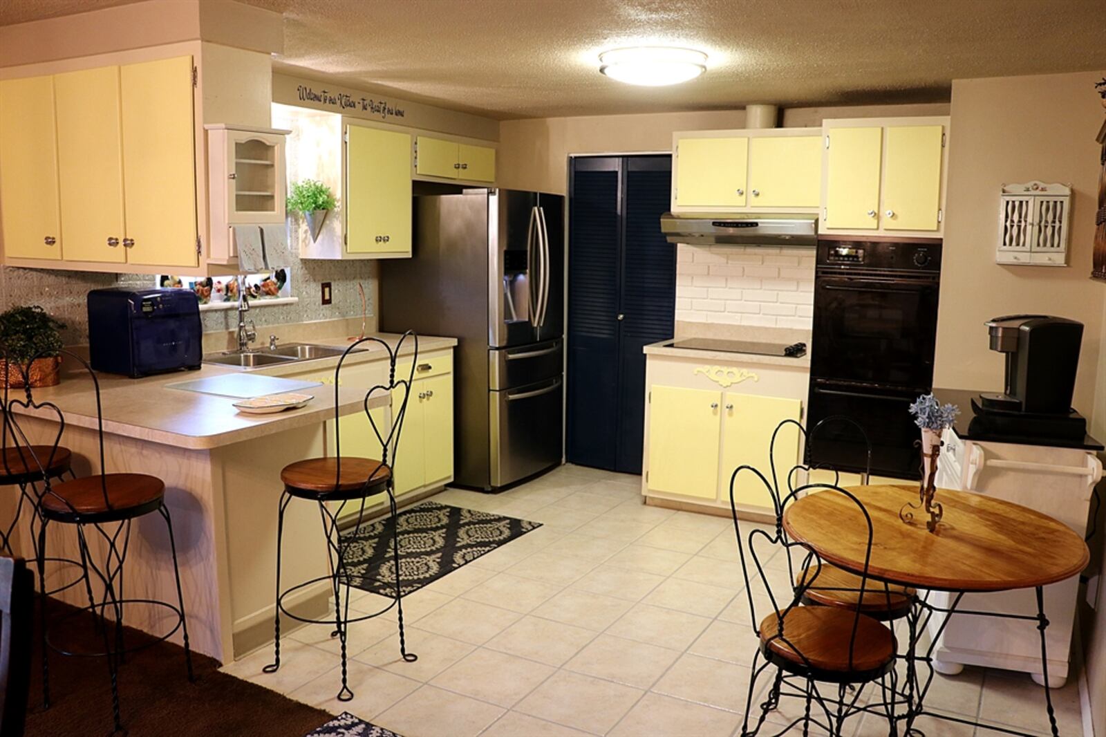
{"label": "nearest wrought-iron chair with heart-shaped back at the round table", "polygon": [[[890,735],[896,735],[897,722],[894,714],[896,688],[895,657],[896,641],[891,630],[881,622],[862,613],[858,609],[842,609],[835,606],[803,606],[802,600],[807,590],[816,585],[822,572],[823,562],[813,549],[803,543],[791,541],[776,529],[770,533],[761,528],[754,528],[748,539],[742,538],[741,525],[738,519],[733,488],[739,476],[751,474],[760,479],[764,488],[775,496],[772,485],[755,468],[740,466],[730,477],[730,510],[733,516],[733,530],[738,540],[738,552],[741,560],[741,571],[744,577],[745,593],[749,598],[749,609],[752,629],[760,644],[752,663],[752,676],[749,684],[749,695],[745,700],[745,716],[742,722],[742,737],[757,735],[765,724],[769,712],[780,705],[782,697],[803,699],[804,712],[787,726],[774,733],[773,737],[792,734],[792,728],[802,725],[803,735],[808,734],[812,725],[831,735],[843,734],[845,719],[862,712],[881,713],[890,725]],[[820,494],[841,494],[856,504],[855,521],[867,525],[867,553],[865,565],[859,578],[857,593],[863,600],[869,587],[874,584],[868,578],[868,562],[872,556],[872,518],[867,510],[849,491],[832,484],[814,484],[799,487],[790,491],[780,501],[780,516],[789,504],[806,491],[817,490]],[[758,548],[758,544],[761,547]],[[801,550],[807,565],[797,580],[796,585],[789,588],[779,598],[773,591],[770,577],[764,570],[763,561],[772,554],[783,554],[790,560],[793,550]],[[772,611],[759,617],[753,596],[754,580],[768,593]],[[750,712],[753,695],[757,693],[758,681],[769,668],[775,668],[773,682],[768,697],[760,704],[760,714],[750,728]],[[860,705],[860,688],[869,683],[878,683],[885,699],[881,703]],[[824,694],[828,684],[836,686],[836,693]],[[814,707],[817,710],[812,713]],[[824,720],[823,720],[824,717]]]}

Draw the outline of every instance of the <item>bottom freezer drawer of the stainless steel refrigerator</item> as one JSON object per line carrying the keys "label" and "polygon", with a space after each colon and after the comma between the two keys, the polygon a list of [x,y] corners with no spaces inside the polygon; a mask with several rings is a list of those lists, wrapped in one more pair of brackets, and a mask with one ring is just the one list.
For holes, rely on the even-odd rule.
{"label": "bottom freezer drawer of the stainless steel refrigerator", "polygon": [[563,395],[560,375],[489,392],[492,487],[513,484],[561,463]]}

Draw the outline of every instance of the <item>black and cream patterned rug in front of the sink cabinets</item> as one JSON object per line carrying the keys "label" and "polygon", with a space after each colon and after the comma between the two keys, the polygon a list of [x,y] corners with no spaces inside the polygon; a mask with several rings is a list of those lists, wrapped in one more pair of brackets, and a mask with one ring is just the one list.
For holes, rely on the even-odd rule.
{"label": "black and cream patterned rug in front of the sink cabinets", "polygon": [[[390,518],[343,534],[349,585],[385,596],[395,592]],[[541,522],[425,501],[399,512],[399,579],[404,594],[421,589]]]}

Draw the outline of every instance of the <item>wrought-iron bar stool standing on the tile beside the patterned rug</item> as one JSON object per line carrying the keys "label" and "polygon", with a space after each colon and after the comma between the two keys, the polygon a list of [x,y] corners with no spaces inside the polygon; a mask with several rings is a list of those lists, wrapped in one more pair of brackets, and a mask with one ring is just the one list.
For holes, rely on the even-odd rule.
{"label": "wrought-iron bar stool standing on the tile beside the patterned rug", "polygon": [[[414,343],[411,353],[410,373],[406,377],[396,377],[396,361],[404,344],[410,340]],[[368,424],[373,429],[373,435],[379,443],[379,459],[364,458],[358,456],[342,455],[341,413],[338,412],[338,394],[342,375],[342,364],[349,353],[363,343],[377,343],[387,351],[388,354],[388,378],[386,383],[376,384],[365,394],[363,407]],[[273,617],[273,662],[262,668],[264,673],[275,673],[280,668],[280,620],[281,614],[307,624],[326,624],[333,626],[332,637],[337,637],[341,644],[342,657],[342,688],[338,691],[337,699],[348,702],[353,698],[349,689],[346,673],[346,636],[351,624],[364,622],[379,616],[396,608],[399,624],[399,653],[404,661],[411,663],[418,660],[414,653],[407,652],[407,642],[404,637],[404,608],[403,585],[400,583],[399,564],[399,522],[396,507],[395,481],[392,476],[392,468],[395,466],[396,451],[399,446],[399,436],[403,430],[404,417],[407,413],[407,399],[410,395],[411,382],[415,378],[415,365],[418,362],[418,335],[413,331],[404,333],[396,343],[395,349],[378,338],[363,338],[345,350],[338,359],[334,369],[334,455],[326,458],[310,458],[298,460],[281,470],[281,480],[284,482],[284,490],[281,492],[280,505],[278,507],[276,522],[276,611]],[[396,407],[397,395],[398,408]],[[386,425],[382,433],[380,425],[373,417],[369,402],[375,396],[387,395],[392,397],[390,422],[382,423]],[[390,454],[390,464],[389,464]],[[345,560],[345,543],[338,530],[338,518],[348,502],[359,504],[356,529],[361,529],[365,517],[365,505],[371,497],[385,494],[388,498],[388,521],[392,533],[392,554],[394,558],[394,578],[390,583],[395,584],[395,598],[390,603],[379,611],[371,614],[349,616],[349,575]],[[323,536],[326,538],[326,552],[330,561],[330,574],[321,575],[302,583],[298,583],[284,591],[281,591],[281,549],[284,534],[284,512],[292,499],[304,499],[319,505],[319,513],[323,522]],[[337,502],[337,507],[333,506]],[[387,529],[387,528],[385,528]],[[284,606],[284,599],[306,587],[328,581],[334,596],[334,615],[327,619],[305,619]],[[343,589],[345,595],[343,596]]]}

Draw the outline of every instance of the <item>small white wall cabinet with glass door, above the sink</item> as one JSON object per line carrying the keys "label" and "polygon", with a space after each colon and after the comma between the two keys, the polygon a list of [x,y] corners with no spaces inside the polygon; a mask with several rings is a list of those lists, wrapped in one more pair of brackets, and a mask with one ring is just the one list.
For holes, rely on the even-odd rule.
{"label": "small white wall cabinet with glass door, above the sink", "polygon": [[232,228],[284,222],[289,131],[205,125],[208,138],[211,260],[237,257]]}

